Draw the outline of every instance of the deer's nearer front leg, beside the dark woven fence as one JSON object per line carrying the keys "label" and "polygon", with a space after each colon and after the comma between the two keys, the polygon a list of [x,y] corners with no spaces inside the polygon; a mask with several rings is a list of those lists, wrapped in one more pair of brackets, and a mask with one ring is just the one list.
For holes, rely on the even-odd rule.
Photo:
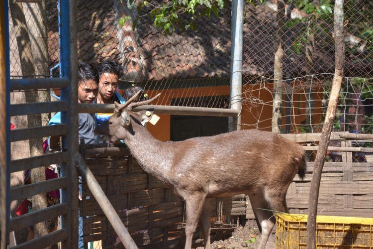
{"label": "deer's nearer front leg, beside the dark woven fence", "polygon": [[186,198],[187,225],[185,228],[186,243],[185,249],[191,249],[191,241],[198,224],[199,216],[202,212],[206,195],[204,193],[194,193]]}

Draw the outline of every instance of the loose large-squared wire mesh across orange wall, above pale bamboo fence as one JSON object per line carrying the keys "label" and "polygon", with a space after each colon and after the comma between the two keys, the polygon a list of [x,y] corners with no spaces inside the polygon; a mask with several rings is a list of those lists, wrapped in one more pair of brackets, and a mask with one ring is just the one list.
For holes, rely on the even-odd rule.
{"label": "loose large-squared wire mesh across orange wall, above pale bamboo fence", "polygon": [[[311,75],[284,81],[281,133],[321,132],[332,74]],[[367,78],[344,78],[336,110],[334,131],[372,133],[373,81]],[[259,84],[243,88],[243,126],[272,128],[273,81],[262,78]]]}

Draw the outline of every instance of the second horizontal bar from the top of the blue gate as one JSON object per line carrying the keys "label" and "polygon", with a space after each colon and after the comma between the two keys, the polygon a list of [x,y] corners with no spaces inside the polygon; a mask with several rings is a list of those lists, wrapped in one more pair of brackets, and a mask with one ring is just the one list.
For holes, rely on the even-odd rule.
{"label": "second horizontal bar from the top of the blue gate", "polygon": [[39,102],[10,105],[10,116],[34,115],[40,113],[66,112],[66,101]]}

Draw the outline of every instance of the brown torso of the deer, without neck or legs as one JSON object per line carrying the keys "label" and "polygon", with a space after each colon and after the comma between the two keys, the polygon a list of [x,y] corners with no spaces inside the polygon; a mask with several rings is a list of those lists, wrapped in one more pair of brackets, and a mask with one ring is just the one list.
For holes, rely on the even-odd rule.
{"label": "brown torso of the deer, without neck or legs", "polygon": [[175,162],[179,162],[174,164],[178,165],[175,179],[188,179],[196,186],[198,182],[208,183],[211,188],[219,185],[221,191],[289,181],[298,171],[304,154],[295,142],[257,129],[177,143],[174,148],[179,148],[180,153],[175,157]]}

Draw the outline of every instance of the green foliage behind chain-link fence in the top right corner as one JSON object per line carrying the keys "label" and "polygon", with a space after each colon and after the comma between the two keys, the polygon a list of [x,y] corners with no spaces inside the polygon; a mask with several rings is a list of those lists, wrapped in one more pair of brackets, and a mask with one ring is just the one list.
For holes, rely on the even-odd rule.
{"label": "green foliage behind chain-link fence in the top right corner", "polygon": [[[330,26],[333,24],[333,7],[332,0],[293,0],[294,6],[307,17],[301,19],[294,18],[288,20],[286,28],[291,28],[298,25],[300,22],[305,25],[304,32],[299,32],[294,40],[291,48],[300,54],[305,51],[308,60],[312,63],[312,46],[314,46],[315,36],[322,35],[329,37],[332,40],[332,31]],[[344,4],[344,20],[345,30],[352,33],[354,36],[367,41],[365,46],[367,54],[369,54],[369,62],[373,62],[373,4],[369,1],[346,0]],[[329,26],[329,29],[328,29]],[[359,46],[346,46],[346,56],[359,54]],[[356,61],[358,63],[359,61]]]}

